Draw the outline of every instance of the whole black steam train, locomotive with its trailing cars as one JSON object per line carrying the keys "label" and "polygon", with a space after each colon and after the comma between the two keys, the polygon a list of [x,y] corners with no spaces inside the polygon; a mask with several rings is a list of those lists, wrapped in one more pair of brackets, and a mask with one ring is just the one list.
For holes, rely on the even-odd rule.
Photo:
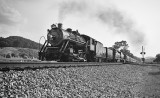
{"label": "whole black steam train, locomotive with its trailing cars", "polygon": [[78,30],[63,29],[53,24],[48,29],[47,40],[39,51],[39,60],[59,62],[126,62],[133,58],[103,44]]}

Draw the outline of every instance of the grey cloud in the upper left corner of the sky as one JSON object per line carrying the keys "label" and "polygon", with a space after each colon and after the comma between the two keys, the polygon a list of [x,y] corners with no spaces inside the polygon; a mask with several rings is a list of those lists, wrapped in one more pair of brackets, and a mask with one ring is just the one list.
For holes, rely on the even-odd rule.
{"label": "grey cloud in the upper left corner of the sky", "polygon": [[21,14],[8,5],[5,0],[0,0],[0,24],[17,25],[22,21]]}

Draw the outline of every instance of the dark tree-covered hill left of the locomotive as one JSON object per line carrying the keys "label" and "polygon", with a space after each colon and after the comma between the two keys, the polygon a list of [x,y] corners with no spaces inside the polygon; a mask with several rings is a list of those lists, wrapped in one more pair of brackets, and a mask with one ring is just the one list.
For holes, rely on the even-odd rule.
{"label": "dark tree-covered hill left of the locomotive", "polygon": [[0,37],[0,47],[39,49],[39,43],[20,36],[9,36],[7,38]]}

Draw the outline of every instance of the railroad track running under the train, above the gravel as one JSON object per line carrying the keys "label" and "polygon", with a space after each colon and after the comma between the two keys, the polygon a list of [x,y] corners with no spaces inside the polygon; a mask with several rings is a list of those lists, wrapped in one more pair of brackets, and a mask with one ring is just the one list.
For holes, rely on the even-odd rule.
{"label": "railroad track running under the train, above the gravel", "polygon": [[0,62],[0,71],[59,68],[59,67],[84,67],[84,66],[104,66],[121,65],[123,63],[98,63],[98,62]]}

